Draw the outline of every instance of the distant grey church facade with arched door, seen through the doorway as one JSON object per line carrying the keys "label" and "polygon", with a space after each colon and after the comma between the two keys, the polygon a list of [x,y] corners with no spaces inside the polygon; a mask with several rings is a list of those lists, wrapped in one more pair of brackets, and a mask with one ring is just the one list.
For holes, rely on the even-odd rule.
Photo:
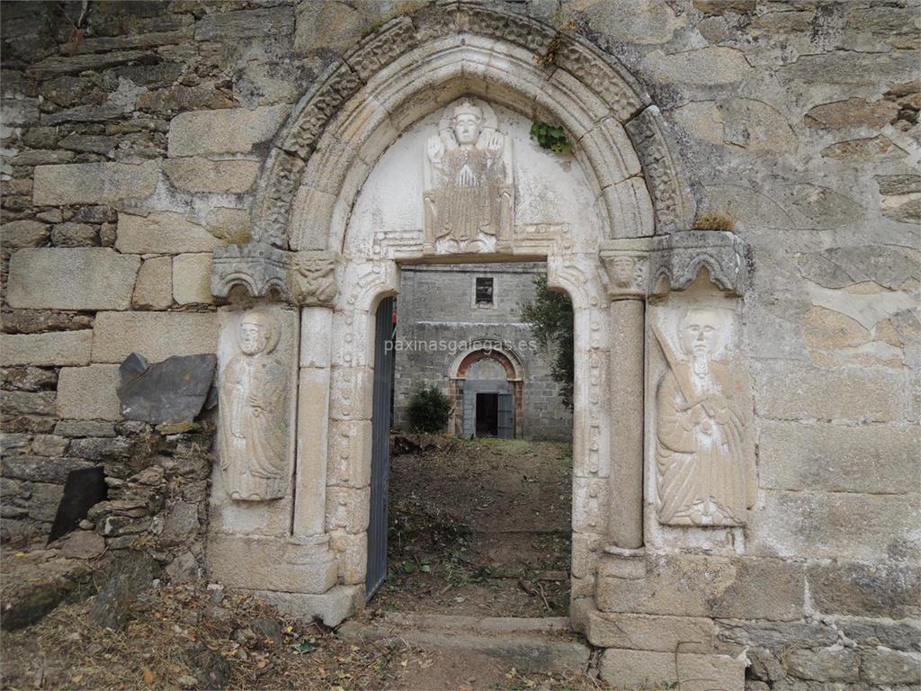
{"label": "distant grey church facade with arched door, seen through the doorway", "polygon": [[521,322],[520,307],[534,301],[534,278],[545,272],[527,262],[403,268],[395,427],[411,427],[406,410],[419,387],[437,386],[453,404],[449,434],[572,439],[572,412],[551,374],[554,352]]}

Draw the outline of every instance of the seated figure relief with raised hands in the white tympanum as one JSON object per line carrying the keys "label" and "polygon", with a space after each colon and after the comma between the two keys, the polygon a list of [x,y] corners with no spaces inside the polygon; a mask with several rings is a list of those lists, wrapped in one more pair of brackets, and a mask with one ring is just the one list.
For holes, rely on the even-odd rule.
{"label": "seated figure relief with raised hands in the white tympanum", "polygon": [[426,145],[426,243],[439,253],[494,252],[511,240],[511,141],[482,101],[451,104]]}

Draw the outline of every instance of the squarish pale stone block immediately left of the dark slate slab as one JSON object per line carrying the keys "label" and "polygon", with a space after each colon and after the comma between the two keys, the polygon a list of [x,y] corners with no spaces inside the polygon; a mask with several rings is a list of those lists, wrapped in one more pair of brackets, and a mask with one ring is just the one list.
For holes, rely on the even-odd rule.
{"label": "squarish pale stone block immediately left of the dark slate slab", "polygon": [[121,420],[115,394],[118,384],[117,365],[62,369],[58,380],[57,416],[75,420]]}

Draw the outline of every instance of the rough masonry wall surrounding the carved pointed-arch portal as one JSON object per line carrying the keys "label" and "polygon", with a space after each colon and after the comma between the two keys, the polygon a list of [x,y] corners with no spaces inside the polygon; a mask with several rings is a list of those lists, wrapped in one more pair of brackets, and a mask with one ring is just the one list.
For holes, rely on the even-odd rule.
{"label": "rough masonry wall surrounding the carved pointed-arch portal", "polygon": [[[117,363],[215,351],[210,252],[247,239],[267,143],[324,67],[422,5],[4,7],[6,531],[46,528],[69,468],[105,464],[120,492],[170,486],[181,450],[210,446],[207,426],[121,422]],[[610,649],[602,673],[675,681],[682,644],[684,669],[747,664],[759,691],[916,685],[917,3],[491,5],[616,56],[659,106],[698,207],[752,248],[752,520],[722,543],[649,547],[642,574],[618,555],[574,574],[575,621]],[[136,521],[194,545],[206,489],[188,474],[169,495],[179,537],[144,522],[158,500],[110,507],[125,520],[99,515],[96,530]],[[599,611],[581,616],[596,578]]]}

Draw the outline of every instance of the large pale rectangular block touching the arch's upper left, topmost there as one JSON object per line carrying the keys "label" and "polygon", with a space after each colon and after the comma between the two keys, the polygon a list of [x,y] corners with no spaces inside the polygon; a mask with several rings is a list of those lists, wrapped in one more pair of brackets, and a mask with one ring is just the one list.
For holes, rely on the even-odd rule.
{"label": "large pale rectangular block touching the arch's upper left, topmost there", "polygon": [[169,123],[169,156],[247,153],[272,138],[287,113],[284,105],[183,112]]}

